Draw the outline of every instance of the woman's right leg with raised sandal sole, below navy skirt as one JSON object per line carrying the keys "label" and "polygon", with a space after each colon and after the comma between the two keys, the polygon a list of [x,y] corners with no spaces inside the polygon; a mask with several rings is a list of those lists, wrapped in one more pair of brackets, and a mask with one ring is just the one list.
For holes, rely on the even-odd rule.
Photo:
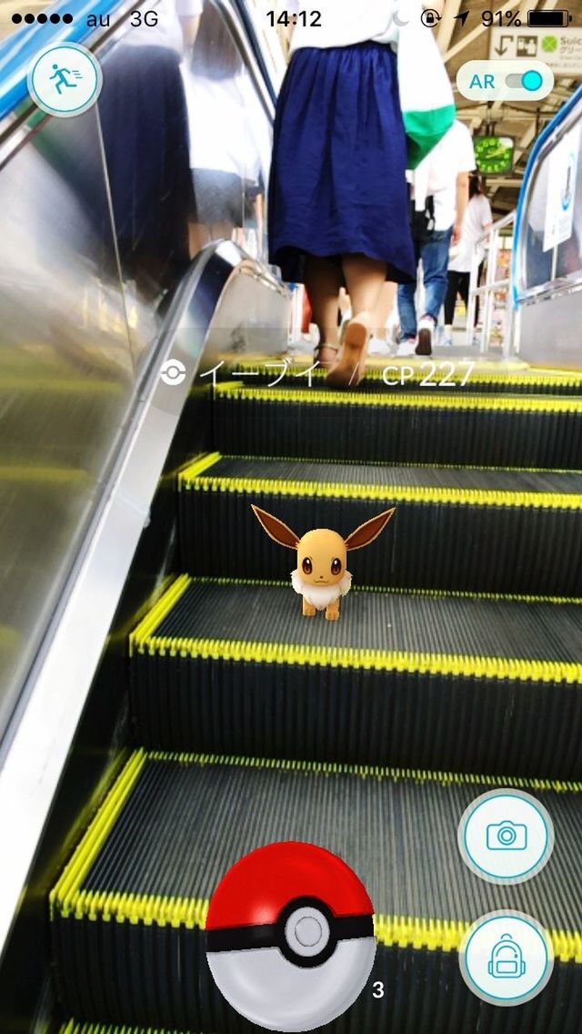
{"label": "woman's right leg with raised sandal sole, below navy skirt", "polygon": [[332,388],[353,388],[366,372],[366,353],[373,313],[386,283],[386,263],[367,255],[342,256],[347,293],[351,299],[353,317],[345,328],[337,366],[328,374]]}

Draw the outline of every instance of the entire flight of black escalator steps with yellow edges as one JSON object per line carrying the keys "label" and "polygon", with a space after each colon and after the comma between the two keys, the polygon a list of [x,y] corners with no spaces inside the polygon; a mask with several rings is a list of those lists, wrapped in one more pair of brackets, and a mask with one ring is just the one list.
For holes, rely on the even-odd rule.
{"label": "entire flight of black escalator steps with yellow edges", "polygon": [[[476,369],[453,391],[419,368],[401,389],[378,362],[342,394],[318,373],[270,388],[254,365],[201,389],[220,452],[179,476],[188,573],[130,636],[141,747],[50,894],[60,1002],[82,1017],[60,1034],[262,1030],[218,992],[204,927],[228,868],[281,840],[335,851],[376,910],[369,986],[324,1034],[580,1034],[582,378]],[[396,504],[350,556],[339,624],[302,616],[292,554],[251,501],[344,535]],[[556,843],[504,888],[456,840],[510,779]],[[504,1010],[469,993],[457,956],[503,907],[544,923],[556,956],[544,995]]]}

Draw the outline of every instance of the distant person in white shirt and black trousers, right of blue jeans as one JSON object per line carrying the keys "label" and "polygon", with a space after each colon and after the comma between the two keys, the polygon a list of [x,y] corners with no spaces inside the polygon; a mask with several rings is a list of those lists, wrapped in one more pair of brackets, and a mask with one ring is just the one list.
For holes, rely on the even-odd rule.
{"label": "distant person in white shirt and black trousers, right of blue jeans", "polygon": [[[455,305],[457,295],[460,295],[465,305],[469,300],[469,281],[471,265],[474,262],[479,266],[478,283],[483,272],[485,261],[485,247],[478,244],[484,233],[489,230],[493,221],[491,205],[486,196],[483,180],[479,173],[471,173],[469,179],[469,203],[466,207],[461,240],[455,253],[449,261],[449,283],[447,297],[445,299],[445,340],[443,344],[453,343],[453,321],[455,318]],[[479,320],[479,297],[474,310],[474,322]]]}

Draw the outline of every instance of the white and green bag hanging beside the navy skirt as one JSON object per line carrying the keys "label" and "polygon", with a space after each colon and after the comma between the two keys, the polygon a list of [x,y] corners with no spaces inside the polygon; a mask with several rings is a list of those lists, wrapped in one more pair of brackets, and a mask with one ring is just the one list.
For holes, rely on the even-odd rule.
{"label": "white and green bag hanging beside the navy skirt", "polygon": [[[395,0],[400,105],[408,142],[408,169],[416,169],[455,121],[453,88],[432,30],[423,25],[421,0]],[[402,24],[407,19],[406,24]]]}

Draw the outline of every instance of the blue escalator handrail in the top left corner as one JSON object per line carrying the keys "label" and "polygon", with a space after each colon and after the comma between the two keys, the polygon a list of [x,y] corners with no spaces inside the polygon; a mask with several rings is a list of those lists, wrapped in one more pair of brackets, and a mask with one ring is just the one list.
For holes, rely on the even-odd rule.
{"label": "blue escalator handrail in the top left corner", "polygon": [[[95,35],[87,20],[95,16],[110,18],[114,10],[125,5],[125,0],[76,0],[74,19],[70,25],[59,22],[53,25],[25,25],[0,43],[0,121],[28,96],[27,75],[34,56],[51,43],[83,43]],[[51,5],[52,14],[70,11],[70,0],[58,0]],[[106,31],[106,29],[103,30]]]}

